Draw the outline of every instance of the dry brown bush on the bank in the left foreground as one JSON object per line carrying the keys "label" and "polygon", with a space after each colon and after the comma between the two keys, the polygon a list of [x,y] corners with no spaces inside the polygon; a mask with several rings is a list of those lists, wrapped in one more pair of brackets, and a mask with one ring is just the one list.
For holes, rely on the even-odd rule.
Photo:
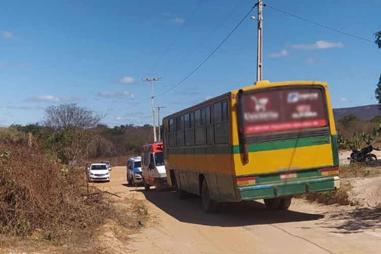
{"label": "dry brown bush on the bank in the left foreground", "polygon": [[26,135],[0,130],[0,233],[30,235],[67,243],[85,228],[100,225],[111,213],[102,196],[87,192],[84,169],[63,174]]}

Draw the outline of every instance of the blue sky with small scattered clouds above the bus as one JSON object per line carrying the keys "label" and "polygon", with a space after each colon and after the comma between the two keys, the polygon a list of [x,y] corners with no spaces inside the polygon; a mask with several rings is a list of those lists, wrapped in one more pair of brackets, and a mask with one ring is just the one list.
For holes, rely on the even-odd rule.
{"label": "blue sky with small scattered clouds above the bus", "polygon": [[[1,1],[0,125],[40,122],[44,108],[64,102],[105,114],[109,126],[151,123],[150,86],[141,79],[163,77],[156,94],[176,84],[253,2]],[[380,0],[264,3],[368,40],[381,29]],[[244,20],[194,75],[155,98],[156,106],[166,106],[161,116],[252,84],[256,26]],[[381,49],[374,43],[264,8],[265,79],[326,81],[338,108],[376,103],[379,73]]]}

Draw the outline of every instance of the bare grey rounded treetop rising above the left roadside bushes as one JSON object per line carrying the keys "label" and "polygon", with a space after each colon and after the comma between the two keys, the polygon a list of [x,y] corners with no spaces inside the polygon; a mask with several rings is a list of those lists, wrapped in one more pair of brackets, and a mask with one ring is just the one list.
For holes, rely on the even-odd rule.
{"label": "bare grey rounded treetop rising above the left roadside bushes", "polygon": [[103,118],[103,115],[75,103],[51,105],[44,113],[44,124],[55,130],[89,129]]}

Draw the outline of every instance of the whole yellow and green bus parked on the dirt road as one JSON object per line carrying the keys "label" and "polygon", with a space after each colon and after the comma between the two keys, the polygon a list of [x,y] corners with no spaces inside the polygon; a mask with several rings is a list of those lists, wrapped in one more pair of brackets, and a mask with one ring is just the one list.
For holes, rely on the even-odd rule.
{"label": "whole yellow and green bus parked on the dirt road", "polygon": [[168,183],[179,197],[221,202],[264,199],[287,209],[293,195],[339,187],[328,85],[259,81],[163,119]]}

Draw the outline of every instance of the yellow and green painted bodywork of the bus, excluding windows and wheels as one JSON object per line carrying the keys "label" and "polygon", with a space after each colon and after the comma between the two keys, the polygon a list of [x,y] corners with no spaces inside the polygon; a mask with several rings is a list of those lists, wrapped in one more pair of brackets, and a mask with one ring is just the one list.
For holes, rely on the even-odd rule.
{"label": "yellow and green painted bodywork of the bus, excluding windows and wheels", "polygon": [[[320,136],[284,138],[277,141],[248,143],[248,163],[243,162],[237,124],[236,99],[239,89],[213,98],[167,116],[165,129],[165,157],[170,185],[171,171],[178,179],[179,188],[200,195],[201,181],[205,179],[210,196],[218,202],[285,197],[299,193],[332,190],[339,186],[337,138],[327,83],[317,81],[259,82],[241,88],[244,92],[287,86],[319,86],[326,99],[327,133]],[[213,105],[220,98],[229,98],[229,144],[191,147],[169,147],[169,120],[192,109]],[[331,170],[334,175],[323,174]],[[326,172],[327,173],[327,172]],[[331,174],[329,173],[329,174]],[[291,178],[288,178],[291,175]],[[240,178],[248,180],[239,184]]]}

